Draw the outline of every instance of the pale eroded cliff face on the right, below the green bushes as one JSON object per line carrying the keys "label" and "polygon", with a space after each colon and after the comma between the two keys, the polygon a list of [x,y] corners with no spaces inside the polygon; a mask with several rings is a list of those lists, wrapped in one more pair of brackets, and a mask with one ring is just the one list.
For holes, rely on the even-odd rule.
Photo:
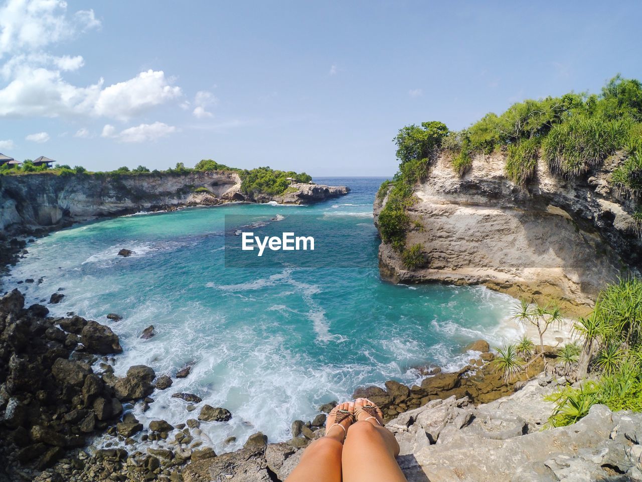
{"label": "pale eroded cliff face on the right, below the green bushes", "polygon": [[[417,202],[406,246],[421,244],[426,266],[406,269],[388,244],[379,246],[381,275],[394,282],[484,284],[538,301],[558,298],[586,314],[599,290],[637,271],[642,242],[632,200],[611,189],[620,157],[582,179],[561,179],[540,161],[527,190],[504,174],[505,156],[477,156],[462,179],[438,156]],[[374,206],[375,223],[386,199]],[[416,221],[416,223],[415,223]]]}

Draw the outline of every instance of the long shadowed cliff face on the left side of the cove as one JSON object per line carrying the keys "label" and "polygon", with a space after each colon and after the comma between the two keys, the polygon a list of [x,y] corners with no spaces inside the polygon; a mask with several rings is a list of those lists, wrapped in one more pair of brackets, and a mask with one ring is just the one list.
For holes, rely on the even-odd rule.
{"label": "long shadowed cliff face on the left side of the cove", "polygon": [[[120,175],[53,175],[0,177],[0,230],[54,227],[96,217],[198,204],[196,188],[213,197],[243,200],[241,179],[234,172],[188,172]],[[240,197],[239,197],[240,196]]]}

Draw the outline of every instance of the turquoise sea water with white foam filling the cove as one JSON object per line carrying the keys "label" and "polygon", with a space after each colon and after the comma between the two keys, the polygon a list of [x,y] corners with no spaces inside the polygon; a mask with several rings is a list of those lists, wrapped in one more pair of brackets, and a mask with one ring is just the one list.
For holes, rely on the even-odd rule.
{"label": "turquoise sea water with white foam filling the cove", "polygon": [[[169,397],[175,391],[227,407],[229,423],[202,425],[217,451],[236,449],[259,430],[285,440],[293,420],[310,420],[318,404],[347,398],[358,386],[389,379],[411,384],[420,377],[417,366],[465,364],[470,356],[460,347],[470,341],[516,337],[517,328],[507,324],[508,296],[379,279],[372,201],[382,179],[315,181],[346,184],[352,192],[314,206],[230,204],[58,231],[28,246],[7,285],[44,274],[40,285],[20,285],[28,301],[62,287],[62,303],[49,305],[53,314],[72,310],[110,325],[125,350],[114,362],[117,375],[132,364],[174,375],[193,363],[189,377],[155,393],[149,411],[134,407],[134,413],[143,422],[173,424],[195,417]],[[310,222],[324,226],[327,236],[343,235],[337,255],[360,267],[226,269],[226,214],[284,223],[293,214],[313,215]],[[116,256],[123,247],[135,254]],[[109,312],[123,321],[108,321]],[[148,325],[157,335],[142,340]],[[238,442],[223,445],[230,435]]]}

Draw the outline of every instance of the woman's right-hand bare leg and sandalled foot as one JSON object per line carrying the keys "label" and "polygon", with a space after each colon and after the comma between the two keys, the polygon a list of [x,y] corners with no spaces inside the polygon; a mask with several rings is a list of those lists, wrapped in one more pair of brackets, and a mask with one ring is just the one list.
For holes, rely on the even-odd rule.
{"label": "woman's right-hand bare leg and sandalled foot", "polygon": [[366,398],[354,402],[357,422],[351,425],[343,443],[343,482],[406,482],[395,460],[399,444],[382,426],[383,417],[378,407],[372,415],[361,408],[369,405],[374,404]]}

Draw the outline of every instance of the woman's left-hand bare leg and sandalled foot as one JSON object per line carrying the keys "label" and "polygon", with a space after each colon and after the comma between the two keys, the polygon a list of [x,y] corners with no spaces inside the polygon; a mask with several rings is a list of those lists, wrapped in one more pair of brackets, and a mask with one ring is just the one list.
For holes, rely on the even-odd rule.
{"label": "woman's left-hand bare leg and sandalled foot", "polygon": [[[286,482],[341,482],[341,452],[352,416],[339,422],[341,427],[334,425],[339,410],[352,414],[354,403],[346,402],[334,407],[325,422],[325,436],[308,445]],[[340,413],[339,418],[341,416]]]}

